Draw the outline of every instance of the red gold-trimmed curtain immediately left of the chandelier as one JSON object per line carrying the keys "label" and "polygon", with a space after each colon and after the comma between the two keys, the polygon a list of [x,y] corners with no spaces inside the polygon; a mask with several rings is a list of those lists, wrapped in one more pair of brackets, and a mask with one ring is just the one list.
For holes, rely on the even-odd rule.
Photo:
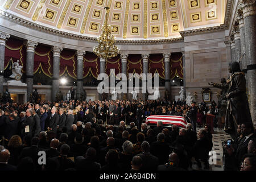
{"label": "red gold-trimmed curtain immediately left of the chandelier", "polygon": [[86,52],[84,56],[84,78],[89,73],[96,79],[100,74],[100,59],[93,52]]}

